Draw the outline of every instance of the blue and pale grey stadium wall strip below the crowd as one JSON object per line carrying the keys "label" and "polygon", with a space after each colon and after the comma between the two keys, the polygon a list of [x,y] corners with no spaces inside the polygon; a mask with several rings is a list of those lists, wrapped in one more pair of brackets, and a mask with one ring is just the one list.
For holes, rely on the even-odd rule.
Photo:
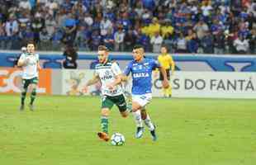
{"label": "blue and pale grey stadium wall strip below the crowd", "polygon": [[[13,67],[18,51],[0,51],[0,67]],[[64,56],[61,52],[39,52],[40,65],[43,68],[62,68]],[[97,62],[96,52],[78,52],[78,68],[90,69]],[[156,58],[157,54],[146,54]],[[121,68],[132,59],[130,53],[111,53]],[[216,55],[216,54],[173,54],[176,70],[186,72],[256,72],[256,55]]]}

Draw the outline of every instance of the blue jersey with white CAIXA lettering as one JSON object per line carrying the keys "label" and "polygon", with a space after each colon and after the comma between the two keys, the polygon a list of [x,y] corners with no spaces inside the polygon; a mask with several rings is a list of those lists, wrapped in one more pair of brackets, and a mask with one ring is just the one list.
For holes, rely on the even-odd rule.
{"label": "blue jersey with white CAIXA lettering", "polygon": [[151,92],[152,87],[152,71],[154,68],[159,68],[158,61],[154,59],[144,59],[138,63],[132,60],[126,67],[125,74],[132,76],[131,93],[141,95]]}

